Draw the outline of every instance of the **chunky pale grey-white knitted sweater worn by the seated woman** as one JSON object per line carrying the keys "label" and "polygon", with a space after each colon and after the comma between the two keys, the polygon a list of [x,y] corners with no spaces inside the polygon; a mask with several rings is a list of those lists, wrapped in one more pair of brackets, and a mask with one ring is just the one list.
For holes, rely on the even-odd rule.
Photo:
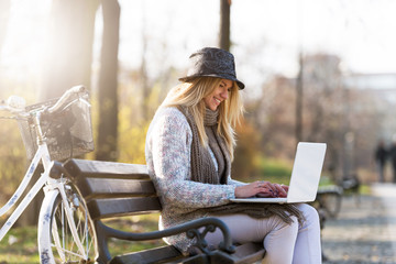
{"label": "chunky pale grey-white knitted sweater worn by the seated woman", "polygon": [[[243,183],[228,176],[228,185],[210,185],[190,180],[193,132],[186,117],[177,108],[160,109],[148,128],[145,157],[148,174],[157,189],[163,210],[160,229],[206,217],[208,207],[229,204],[235,187]],[[217,161],[210,151],[215,166]],[[186,234],[164,239],[186,253],[191,241]]]}

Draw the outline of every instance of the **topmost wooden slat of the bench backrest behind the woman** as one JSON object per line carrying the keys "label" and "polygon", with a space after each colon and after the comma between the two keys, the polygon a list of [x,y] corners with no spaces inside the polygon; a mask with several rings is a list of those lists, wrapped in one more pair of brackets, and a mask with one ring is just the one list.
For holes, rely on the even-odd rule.
{"label": "topmost wooden slat of the bench backrest behind the woman", "polygon": [[147,167],[141,164],[70,160],[65,168],[72,177],[150,179]]}

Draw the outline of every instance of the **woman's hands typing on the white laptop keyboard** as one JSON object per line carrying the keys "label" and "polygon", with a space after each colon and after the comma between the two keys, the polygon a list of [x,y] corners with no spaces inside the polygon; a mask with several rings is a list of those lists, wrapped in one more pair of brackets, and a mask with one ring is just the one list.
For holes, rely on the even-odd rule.
{"label": "woman's hands typing on the white laptop keyboard", "polygon": [[270,182],[254,182],[244,186],[235,187],[235,197],[286,197],[287,190],[288,186],[271,184]]}

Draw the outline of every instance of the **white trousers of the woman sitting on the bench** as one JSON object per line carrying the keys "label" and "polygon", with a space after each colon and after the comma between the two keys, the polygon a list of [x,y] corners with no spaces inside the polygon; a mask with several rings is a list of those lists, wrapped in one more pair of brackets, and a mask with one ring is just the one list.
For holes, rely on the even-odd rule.
{"label": "white trousers of the woman sitting on the bench", "polygon": [[[210,216],[222,220],[230,229],[234,243],[263,242],[266,250],[263,264],[320,264],[320,224],[317,210],[306,204],[297,206],[305,217],[300,226],[293,217],[292,224],[279,217],[255,219],[246,215]],[[222,240],[220,230],[208,233],[209,244]]]}

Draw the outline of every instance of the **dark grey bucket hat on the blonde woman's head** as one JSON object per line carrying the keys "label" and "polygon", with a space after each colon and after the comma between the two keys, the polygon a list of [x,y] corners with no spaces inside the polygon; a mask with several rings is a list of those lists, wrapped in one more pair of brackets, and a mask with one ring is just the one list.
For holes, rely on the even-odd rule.
{"label": "dark grey bucket hat on the blonde woman's head", "polygon": [[191,54],[190,68],[187,76],[179,78],[182,81],[188,81],[196,77],[218,77],[237,81],[240,89],[244,84],[237,79],[234,57],[231,53],[217,48],[204,47]]}

